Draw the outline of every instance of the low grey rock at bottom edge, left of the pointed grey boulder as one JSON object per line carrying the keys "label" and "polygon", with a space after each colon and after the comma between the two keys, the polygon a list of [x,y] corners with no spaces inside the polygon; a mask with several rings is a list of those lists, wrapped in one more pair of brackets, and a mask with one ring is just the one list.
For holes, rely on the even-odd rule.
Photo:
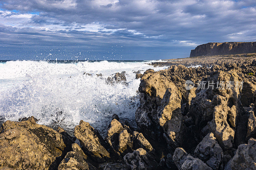
{"label": "low grey rock at bottom edge, left of the pointed grey boulder", "polygon": [[181,170],[188,170],[188,169],[212,170],[212,168],[207,166],[201,159],[192,157],[183,148],[176,148],[172,159],[175,165],[178,167],[178,169],[181,169]]}

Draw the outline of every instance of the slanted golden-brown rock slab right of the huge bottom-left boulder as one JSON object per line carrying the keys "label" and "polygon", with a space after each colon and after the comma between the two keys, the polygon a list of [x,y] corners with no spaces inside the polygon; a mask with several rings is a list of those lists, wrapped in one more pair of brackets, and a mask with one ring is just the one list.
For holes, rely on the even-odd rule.
{"label": "slanted golden-brown rock slab right of the huge bottom-left boulder", "polygon": [[[86,153],[98,163],[112,160],[116,157],[114,150],[100,136],[96,129],[93,129],[88,122],[80,121],[74,129],[76,138],[82,144]],[[110,152],[110,153],[109,153]]]}

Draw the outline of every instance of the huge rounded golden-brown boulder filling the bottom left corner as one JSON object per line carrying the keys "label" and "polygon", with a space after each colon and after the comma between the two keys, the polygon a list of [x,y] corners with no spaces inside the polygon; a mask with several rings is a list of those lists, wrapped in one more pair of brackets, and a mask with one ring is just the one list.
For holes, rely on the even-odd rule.
{"label": "huge rounded golden-brown boulder filling the bottom left corner", "polygon": [[0,166],[15,169],[54,168],[65,149],[62,135],[52,128],[27,121],[3,123],[0,134]]}

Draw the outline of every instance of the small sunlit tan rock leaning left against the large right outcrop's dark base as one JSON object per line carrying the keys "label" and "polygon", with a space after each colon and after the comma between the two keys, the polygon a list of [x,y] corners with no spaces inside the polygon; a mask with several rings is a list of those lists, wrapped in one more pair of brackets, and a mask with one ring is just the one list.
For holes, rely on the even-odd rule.
{"label": "small sunlit tan rock leaning left against the large right outcrop's dark base", "polygon": [[148,142],[148,140],[143,136],[142,133],[134,131],[132,134],[132,141],[134,149],[143,148],[147,152],[153,151],[152,145]]}

